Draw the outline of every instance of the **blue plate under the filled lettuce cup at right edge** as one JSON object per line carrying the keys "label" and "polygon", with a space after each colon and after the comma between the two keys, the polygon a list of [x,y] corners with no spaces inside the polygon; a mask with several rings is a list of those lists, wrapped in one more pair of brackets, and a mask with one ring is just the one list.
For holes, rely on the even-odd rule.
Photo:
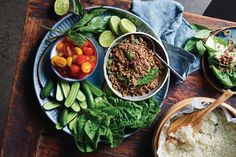
{"label": "blue plate under the filled lettuce cup at right edge", "polygon": [[[230,30],[230,35],[224,35],[225,31]],[[215,32],[215,36],[222,38],[226,41],[232,40],[236,42],[236,28],[235,27],[225,27],[223,29],[220,29],[219,31]],[[214,74],[212,71],[209,69],[209,64],[208,64],[208,53],[205,53],[202,58],[201,58],[201,66],[203,73],[207,79],[207,81],[211,84],[212,87],[217,89],[220,92],[223,92],[226,88],[220,83],[220,81],[214,77]],[[236,88],[230,88],[230,90],[236,94]]]}

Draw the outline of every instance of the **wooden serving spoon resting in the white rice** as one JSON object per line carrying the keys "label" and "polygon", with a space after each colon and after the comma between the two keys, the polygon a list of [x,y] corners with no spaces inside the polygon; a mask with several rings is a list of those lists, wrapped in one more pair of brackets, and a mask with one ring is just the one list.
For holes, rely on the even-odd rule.
{"label": "wooden serving spoon resting in the white rice", "polygon": [[[168,136],[171,141],[174,141],[173,137],[170,136],[170,133],[175,133],[178,129],[184,126],[191,125],[193,128],[193,134],[199,132],[202,127],[203,121],[206,119],[207,115],[212,112],[216,107],[222,104],[225,100],[230,98],[233,95],[231,90],[226,90],[218,99],[215,100],[207,108],[193,113],[183,115],[182,117],[176,119],[168,129]],[[176,141],[175,141],[176,142]]]}

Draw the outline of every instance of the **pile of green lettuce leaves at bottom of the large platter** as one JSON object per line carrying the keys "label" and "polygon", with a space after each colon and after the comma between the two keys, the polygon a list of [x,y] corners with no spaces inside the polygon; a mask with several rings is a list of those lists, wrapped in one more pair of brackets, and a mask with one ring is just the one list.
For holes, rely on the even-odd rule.
{"label": "pile of green lettuce leaves at bottom of the large platter", "polygon": [[131,102],[117,97],[98,97],[96,107],[80,115],[74,131],[76,145],[82,152],[97,149],[99,139],[118,146],[124,138],[125,128],[149,126],[160,111],[154,98]]}

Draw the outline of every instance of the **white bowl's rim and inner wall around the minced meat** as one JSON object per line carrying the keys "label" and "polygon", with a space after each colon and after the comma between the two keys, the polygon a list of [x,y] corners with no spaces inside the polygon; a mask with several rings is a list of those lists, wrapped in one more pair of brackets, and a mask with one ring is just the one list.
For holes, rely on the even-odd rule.
{"label": "white bowl's rim and inner wall around the minced meat", "polygon": [[134,35],[135,37],[143,37],[146,38],[148,40],[150,40],[151,44],[153,45],[153,50],[154,53],[158,53],[159,56],[162,57],[163,60],[165,60],[168,64],[169,64],[169,58],[168,55],[166,53],[166,50],[161,42],[161,40],[158,40],[156,38],[154,38],[153,36],[144,33],[144,32],[132,32],[132,33],[126,33],[120,37],[118,37],[116,40],[113,41],[113,43],[110,45],[110,47],[107,49],[106,51],[106,55],[104,58],[104,64],[103,64],[103,71],[104,71],[104,77],[106,80],[106,83],[108,85],[108,87],[112,90],[112,92],[117,95],[118,97],[125,99],[125,100],[130,100],[130,101],[142,101],[142,100],[146,100],[152,96],[154,96],[165,84],[167,78],[169,77],[169,69],[164,66],[164,69],[162,70],[161,75],[159,76],[159,81],[158,81],[158,85],[156,86],[156,88],[154,88],[153,90],[151,90],[149,93],[141,95],[141,96],[123,96],[119,91],[115,90],[112,87],[112,83],[108,78],[108,74],[107,74],[107,62],[109,59],[109,55],[111,53],[111,50],[113,49],[114,46],[116,46],[117,44],[119,44],[122,40],[130,37],[131,35]]}

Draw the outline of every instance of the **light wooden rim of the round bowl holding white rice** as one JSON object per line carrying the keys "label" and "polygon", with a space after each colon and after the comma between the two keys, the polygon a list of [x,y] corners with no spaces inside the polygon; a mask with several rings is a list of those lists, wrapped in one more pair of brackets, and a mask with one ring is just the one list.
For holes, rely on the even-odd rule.
{"label": "light wooden rim of the round bowl holding white rice", "polygon": [[[152,149],[153,149],[153,155],[157,157],[157,149],[159,146],[159,138],[160,133],[162,130],[162,127],[166,123],[167,120],[169,120],[176,112],[184,108],[185,106],[189,105],[194,98],[198,98],[201,102],[214,102],[215,99],[207,98],[207,97],[193,97],[189,99],[182,100],[176,104],[174,104],[163,116],[163,119],[161,120],[160,124],[156,127],[156,130],[154,132],[153,140],[152,140]],[[229,112],[231,112],[234,116],[236,116],[236,109],[230,106],[229,104],[223,103],[221,106],[225,107]]]}

